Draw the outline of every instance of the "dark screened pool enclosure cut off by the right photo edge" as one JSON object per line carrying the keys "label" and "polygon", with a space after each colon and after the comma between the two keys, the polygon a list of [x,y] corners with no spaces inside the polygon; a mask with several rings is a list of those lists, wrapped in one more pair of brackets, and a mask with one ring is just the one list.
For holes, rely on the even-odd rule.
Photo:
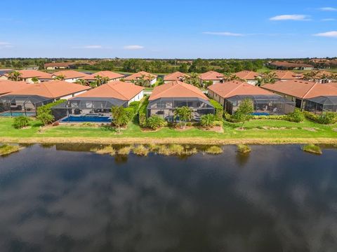
{"label": "dark screened pool enclosure cut off by the right photo edge", "polygon": [[336,96],[320,96],[305,100],[305,110],[312,113],[337,112]]}

